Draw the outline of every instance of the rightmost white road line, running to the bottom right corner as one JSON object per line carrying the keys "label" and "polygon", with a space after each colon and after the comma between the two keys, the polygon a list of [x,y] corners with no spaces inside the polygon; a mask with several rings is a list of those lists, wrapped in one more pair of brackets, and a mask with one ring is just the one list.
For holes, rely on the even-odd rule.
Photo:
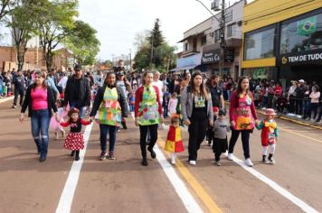
{"label": "rightmost white road line, running to the bottom right corner", "polygon": [[[227,155],[227,153],[226,153]],[[285,190],[284,188],[282,188],[281,186],[279,186],[279,184],[275,181],[270,180],[268,177],[266,177],[265,175],[261,174],[259,171],[256,171],[255,169],[248,167],[247,165],[245,165],[244,162],[242,162],[241,159],[236,158],[235,156],[233,156],[232,158],[233,162],[236,162],[237,164],[239,164],[240,166],[242,166],[242,168],[248,172],[250,172],[253,176],[255,176],[256,178],[260,179],[260,181],[263,181],[264,183],[266,183],[267,185],[270,186],[270,188],[272,188],[273,190],[276,190],[277,192],[279,192],[280,195],[282,195],[284,198],[289,199],[289,201],[291,201],[292,203],[294,203],[295,205],[297,205],[299,208],[301,208],[304,212],[314,212],[317,213],[318,211],[312,207],[310,207],[306,202],[304,202],[301,199],[298,199],[298,197],[295,197],[292,193],[290,193],[288,190]]]}

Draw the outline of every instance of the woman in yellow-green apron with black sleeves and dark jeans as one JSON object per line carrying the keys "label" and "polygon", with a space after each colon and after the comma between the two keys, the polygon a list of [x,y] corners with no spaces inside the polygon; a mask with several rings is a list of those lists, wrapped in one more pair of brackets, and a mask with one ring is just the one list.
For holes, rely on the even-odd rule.
{"label": "woman in yellow-green apron with black sleeves and dark jeans", "polygon": [[128,117],[127,99],[122,88],[117,87],[114,72],[109,72],[103,87],[95,97],[90,119],[93,120],[99,110],[100,160],[107,157],[107,136],[109,134],[109,159],[114,160],[114,146],[118,124]]}

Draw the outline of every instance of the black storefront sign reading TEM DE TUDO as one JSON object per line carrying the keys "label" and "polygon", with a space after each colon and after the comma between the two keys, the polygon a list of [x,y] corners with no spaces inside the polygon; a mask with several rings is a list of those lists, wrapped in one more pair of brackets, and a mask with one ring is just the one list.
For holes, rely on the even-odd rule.
{"label": "black storefront sign reading TEM DE TUDO", "polygon": [[283,54],[279,56],[280,66],[317,64],[322,65],[322,49]]}

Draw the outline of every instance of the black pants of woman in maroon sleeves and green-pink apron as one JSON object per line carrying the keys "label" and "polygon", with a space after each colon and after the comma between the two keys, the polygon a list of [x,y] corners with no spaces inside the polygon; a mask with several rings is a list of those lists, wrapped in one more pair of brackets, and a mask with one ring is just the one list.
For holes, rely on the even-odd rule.
{"label": "black pants of woman in maroon sleeves and green-pink apron", "polygon": [[150,143],[148,144],[149,149],[153,149],[157,140],[157,125],[139,125],[140,128],[140,146],[142,158],[147,158],[147,129],[150,132]]}

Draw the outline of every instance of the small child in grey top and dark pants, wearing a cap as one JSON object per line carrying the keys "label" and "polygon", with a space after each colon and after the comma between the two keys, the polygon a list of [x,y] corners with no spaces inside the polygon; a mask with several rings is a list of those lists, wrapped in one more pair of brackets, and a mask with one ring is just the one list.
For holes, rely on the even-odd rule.
{"label": "small child in grey top and dark pants, wearing a cap", "polygon": [[218,116],[219,119],[213,124],[213,153],[216,165],[220,166],[220,157],[228,148],[227,133],[231,131],[231,126],[224,120],[226,112],[223,109],[219,110]]}

